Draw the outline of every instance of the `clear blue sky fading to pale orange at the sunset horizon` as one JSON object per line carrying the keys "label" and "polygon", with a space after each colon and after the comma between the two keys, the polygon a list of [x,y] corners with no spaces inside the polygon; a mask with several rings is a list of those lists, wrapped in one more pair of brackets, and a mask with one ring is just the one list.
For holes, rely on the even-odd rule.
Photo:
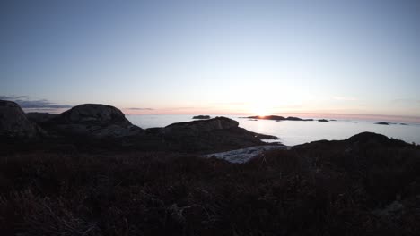
{"label": "clear blue sky fading to pale orange at the sunset horizon", "polygon": [[0,26],[26,108],[420,116],[416,0],[13,0]]}

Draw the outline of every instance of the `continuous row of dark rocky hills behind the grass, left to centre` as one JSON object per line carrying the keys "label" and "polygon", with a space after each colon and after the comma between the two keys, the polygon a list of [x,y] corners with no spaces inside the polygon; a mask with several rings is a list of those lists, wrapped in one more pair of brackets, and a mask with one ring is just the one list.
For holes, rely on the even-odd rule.
{"label": "continuous row of dark rocky hills behind the grass, left to centre", "polygon": [[[276,137],[246,131],[225,117],[141,129],[110,105],[76,105],[62,114],[24,114],[19,105],[2,101],[0,139],[40,142],[83,149],[127,149],[211,153],[264,145]],[[43,139],[40,138],[43,134]],[[33,144],[36,146],[36,144]]]}

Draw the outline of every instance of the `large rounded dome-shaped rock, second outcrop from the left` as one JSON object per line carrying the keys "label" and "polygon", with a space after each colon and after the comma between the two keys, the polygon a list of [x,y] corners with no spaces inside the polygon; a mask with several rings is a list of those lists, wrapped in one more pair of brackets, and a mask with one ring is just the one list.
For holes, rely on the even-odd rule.
{"label": "large rounded dome-shaped rock, second outcrop from the left", "polygon": [[48,130],[87,138],[125,138],[136,136],[141,128],[129,122],[116,107],[84,104],[48,120]]}

